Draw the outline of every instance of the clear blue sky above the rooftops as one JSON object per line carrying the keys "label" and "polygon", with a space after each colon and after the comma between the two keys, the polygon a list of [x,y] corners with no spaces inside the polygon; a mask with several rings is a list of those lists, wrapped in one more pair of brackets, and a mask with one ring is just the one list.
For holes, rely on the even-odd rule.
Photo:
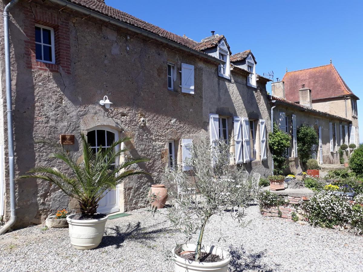
{"label": "clear blue sky above the rooftops", "polygon": [[[363,142],[363,1],[119,1],[107,5],[195,41],[211,30],[232,53],[251,49],[262,75],[328,64],[330,58],[358,101]],[[268,86],[268,91],[270,86]]]}

